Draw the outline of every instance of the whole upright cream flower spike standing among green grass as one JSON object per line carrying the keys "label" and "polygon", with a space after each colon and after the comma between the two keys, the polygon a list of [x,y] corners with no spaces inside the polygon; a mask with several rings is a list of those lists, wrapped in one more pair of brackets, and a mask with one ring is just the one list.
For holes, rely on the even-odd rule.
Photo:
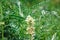
{"label": "whole upright cream flower spike standing among green grass", "polygon": [[26,34],[30,34],[31,35],[30,39],[33,40],[35,35],[35,27],[34,27],[35,20],[30,15],[28,15],[25,21],[28,24],[28,27],[26,29],[27,30]]}

